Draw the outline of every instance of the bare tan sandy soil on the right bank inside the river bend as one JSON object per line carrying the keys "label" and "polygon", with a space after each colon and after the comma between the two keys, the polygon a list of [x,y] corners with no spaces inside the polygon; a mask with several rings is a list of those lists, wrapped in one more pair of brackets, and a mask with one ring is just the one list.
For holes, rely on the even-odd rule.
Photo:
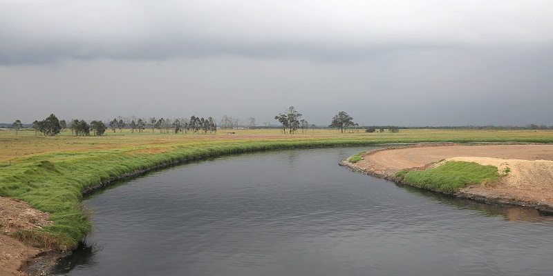
{"label": "bare tan sandy soil on the right bank inside the river bend", "polygon": [[397,171],[429,168],[442,159],[493,165],[505,175],[498,184],[470,186],[456,195],[553,211],[553,145],[422,145],[375,150],[362,157],[355,168],[389,179]]}

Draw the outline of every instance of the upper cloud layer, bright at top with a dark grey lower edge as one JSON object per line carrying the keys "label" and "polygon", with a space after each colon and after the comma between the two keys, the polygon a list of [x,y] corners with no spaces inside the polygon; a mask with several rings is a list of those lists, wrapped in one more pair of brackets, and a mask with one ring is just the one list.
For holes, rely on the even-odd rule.
{"label": "upper cloud layer, bright at top with a dark grey lower edge", "polygon": [[8,1],[0,63],[541,47],[553,41],[548,10],[550,1]]}

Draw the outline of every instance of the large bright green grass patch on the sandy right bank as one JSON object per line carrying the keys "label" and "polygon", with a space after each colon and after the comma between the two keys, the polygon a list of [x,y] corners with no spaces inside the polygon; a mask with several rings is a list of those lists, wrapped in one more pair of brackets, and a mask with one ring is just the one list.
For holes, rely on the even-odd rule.
{"label": "large bright green grass patch on the sandy right bank", "polygon": [[396,177],[402,176],[407,183],[448,194],[456,193],[467,184],[493,183],[500,178],[497,167],[466,161],[450,161],[428,170],[396,174]]}

